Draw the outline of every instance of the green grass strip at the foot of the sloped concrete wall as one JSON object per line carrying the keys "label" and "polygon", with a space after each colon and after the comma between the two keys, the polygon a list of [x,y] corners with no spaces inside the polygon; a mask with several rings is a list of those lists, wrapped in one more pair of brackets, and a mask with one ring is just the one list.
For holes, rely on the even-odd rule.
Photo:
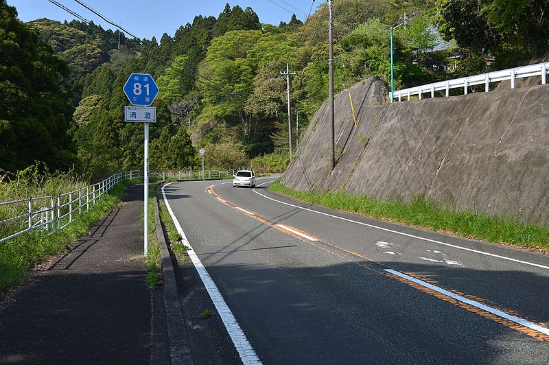
{"label": "green grass strip at the foot of the sloped concrete wall", "polygon": [[456,211],[454,207],[421,196],[405,203],[401,200],[375,200],[365,195],[353,196],[344,191],[299,192],[285,187],[279,181],[270,185],[269,189],[331,209],[351,211],[434,231],[449,231],[463,237],[484,239],[488,242],[542,251],[549,250],[548,226],[522,224],[518,220],[491,217],[485,213]]}

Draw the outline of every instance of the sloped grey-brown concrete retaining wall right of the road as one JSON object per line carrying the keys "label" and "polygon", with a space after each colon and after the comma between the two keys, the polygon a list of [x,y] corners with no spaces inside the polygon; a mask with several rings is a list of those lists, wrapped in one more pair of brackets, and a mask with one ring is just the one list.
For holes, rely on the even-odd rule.
{"label": "sloped grey-brown concrete retaining wall right of the road", "polygon": [[[538,81],[539,82],[539,81]],[[420,194],[459,210],[549,224],[549,85],[385,103],[370,78],[335,99],[329,172],[327,103],[314,115],[282,183],[378,199]]]}

